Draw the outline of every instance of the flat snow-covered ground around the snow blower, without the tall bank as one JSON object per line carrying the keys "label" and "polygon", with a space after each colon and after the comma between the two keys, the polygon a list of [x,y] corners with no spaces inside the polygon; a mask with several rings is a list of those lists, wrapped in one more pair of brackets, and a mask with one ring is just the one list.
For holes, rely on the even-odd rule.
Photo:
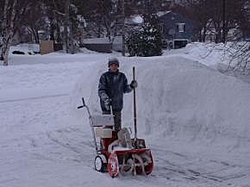
{"label": "flat snow-covered ground around the snow blower, without the tall bank", "polygon": [[91,64],[80,62],[1,67],[0,187],[250,187],[248,148],[222,151],[178,136],[143,134],[155,161],[150,176],[94,171],[87,116],[72,108],[79,78],[86,82],[81,93],[92,97],[91,74]]}

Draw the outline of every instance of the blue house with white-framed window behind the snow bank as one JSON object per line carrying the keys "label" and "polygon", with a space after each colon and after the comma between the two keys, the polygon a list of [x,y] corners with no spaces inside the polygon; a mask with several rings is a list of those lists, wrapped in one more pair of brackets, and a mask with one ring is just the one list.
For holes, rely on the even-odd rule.
{"label": "blue house with white-framed window behind the snow bank", "polygon": [[194,25],[184,15],[172,11],[158,13],[165,48],[180,48],[193,40]]}

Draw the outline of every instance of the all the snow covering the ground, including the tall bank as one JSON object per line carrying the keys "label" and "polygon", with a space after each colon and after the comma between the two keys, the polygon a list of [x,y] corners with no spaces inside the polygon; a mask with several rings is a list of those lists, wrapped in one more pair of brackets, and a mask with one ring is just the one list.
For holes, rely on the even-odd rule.
{"label": "all the snow covering the ground, including the tall bank", "polygon": [[[147,58],[11,54],[0,67],[0,187],[250,187],[249,81],[218,71],[228,59],[211,45]],[[136,68],[138,136],[155,164],[149,176],[94,170],[88,115],[76,108],[84,97],[101,113],[97,85],[110,56],[129,81]],[[133,130],[132,98],[124,95],[123,126]]]}

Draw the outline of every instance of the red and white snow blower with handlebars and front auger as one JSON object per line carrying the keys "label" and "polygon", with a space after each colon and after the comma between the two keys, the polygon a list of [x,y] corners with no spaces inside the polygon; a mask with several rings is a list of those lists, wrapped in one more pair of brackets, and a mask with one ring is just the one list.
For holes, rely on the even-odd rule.
{"label": "red and white snow blower with handlebars and front auger", "polygon": [[82,98],[83,105],[88,111],[90,127],[94,138],[96,157],[95,170],[108,172],[111,177],[122,175],[149,175],[153,170],[151,150],[146,148],[145,140],[130,138],[127,128],[113,130],[113,115],[97,115],[90,113]]}

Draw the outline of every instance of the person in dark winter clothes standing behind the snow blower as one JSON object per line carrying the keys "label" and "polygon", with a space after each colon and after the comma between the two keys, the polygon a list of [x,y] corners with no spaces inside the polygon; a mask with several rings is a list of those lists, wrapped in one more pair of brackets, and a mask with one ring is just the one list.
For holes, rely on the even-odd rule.
{"label": "person in dark winter clothes standing behind the snow blower", "polygon": [[133,80],[128,84],[124,73],[119,71],[119,60],[110,58],[108,61],[109,70],[103,73],[99,80],[98,95],[103,114],[110,114],[110,106],[114,114],[115,130],[121,129],[121,111],[123,108],[123,94],[129,93],[137,87]]}

